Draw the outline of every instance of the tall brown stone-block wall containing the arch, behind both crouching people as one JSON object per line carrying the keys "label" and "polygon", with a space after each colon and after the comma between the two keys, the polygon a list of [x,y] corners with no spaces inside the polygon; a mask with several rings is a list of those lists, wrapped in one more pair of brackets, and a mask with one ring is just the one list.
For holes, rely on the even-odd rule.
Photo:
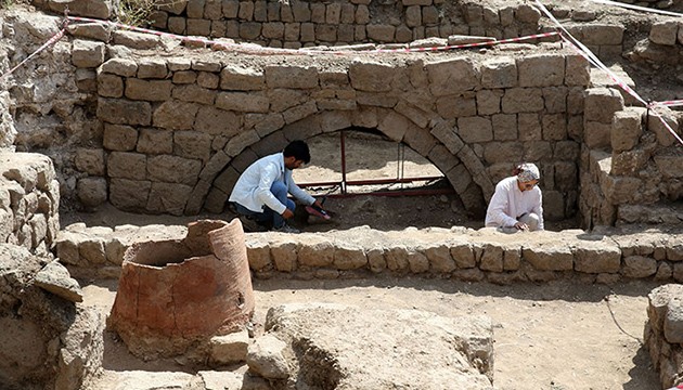
{"label": "tall brown stone-block wall containing the arch, behind both crouching people", "polygon": [[[94,68],[103,44],[74,42]],[[81,50],[82,49],[82,50]],[[102,147],[79,150],[81,200],[151,213],[222,211],[239,174],[289,140],[377,129],[426,157],[481,213],[520,160],[549,219],[576,212],[587,62],[557,43],[486,53],[127,56],[98,69]],[[108,186],[107,186],[108,184]]]}

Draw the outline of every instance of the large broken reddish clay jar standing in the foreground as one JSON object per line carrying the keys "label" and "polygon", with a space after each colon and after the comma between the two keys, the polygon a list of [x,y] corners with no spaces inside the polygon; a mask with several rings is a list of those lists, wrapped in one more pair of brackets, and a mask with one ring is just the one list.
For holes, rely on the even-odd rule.
{"label": "large broken reddish clay jar standing in the foreground", "polygon": [[138,358],[196,353],[254,313],[240,220],[197,221],[182,240],[133,244],[124,255],[108,325]]}

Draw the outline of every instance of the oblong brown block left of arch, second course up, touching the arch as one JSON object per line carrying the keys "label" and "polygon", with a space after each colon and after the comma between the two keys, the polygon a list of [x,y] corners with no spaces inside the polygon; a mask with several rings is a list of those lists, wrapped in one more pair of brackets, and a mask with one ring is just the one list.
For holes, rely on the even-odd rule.
{"label": "oblong brown block left of arch, second course up, touching the arch", "polygon": [[147,178],[164,183],[194,185],[199,177],[202,162],[178,156],[153,156],[147,158]]}

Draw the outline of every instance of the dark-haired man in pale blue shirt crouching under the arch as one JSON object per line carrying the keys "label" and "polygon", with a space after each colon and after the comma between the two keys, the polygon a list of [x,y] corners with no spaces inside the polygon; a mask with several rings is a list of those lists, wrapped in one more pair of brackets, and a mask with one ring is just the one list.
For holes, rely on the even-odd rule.
{"label": "dark-haired man in pale blue shirt crouching under the arch", "polygon": [[[262,157],[242,172],[232,188],[229,202],[235,212],[246,217],[246,221],[241,219],[245,230],[265,230],[272,223],[274,231],[298,233],[298,230],[285,222],[294,217],[296,207],[287,194],[292,194],[305,205],[314,204],[322,209],[322,204],[296,185],[292,179],[292,170],[310,160],[311,155],[306,142],[292,141],[281,153]],[[256,225],[252,222],[256,222]]]}

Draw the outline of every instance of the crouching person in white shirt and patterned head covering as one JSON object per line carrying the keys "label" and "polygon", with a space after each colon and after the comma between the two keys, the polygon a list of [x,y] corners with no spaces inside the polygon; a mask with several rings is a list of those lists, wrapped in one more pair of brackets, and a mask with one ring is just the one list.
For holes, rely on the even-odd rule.
{"label": "crouching person in white shirt and patterned head covering", "polygon": [[533,164],[523,164],[513,173],[495,185],[486,212],[486,226],[500,227],[507,233],[543,230],[539,168]]}

